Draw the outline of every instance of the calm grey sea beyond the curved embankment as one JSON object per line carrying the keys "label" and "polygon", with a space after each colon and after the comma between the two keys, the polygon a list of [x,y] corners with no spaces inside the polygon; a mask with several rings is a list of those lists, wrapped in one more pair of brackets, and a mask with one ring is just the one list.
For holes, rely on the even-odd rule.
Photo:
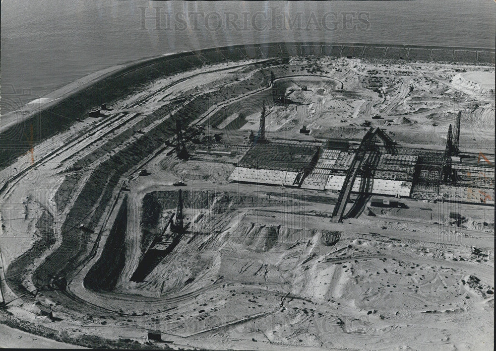
{"label": "calm grey sea beyond the curved embankment", "polygon": [[[142,25],[146,16],[160,7],[162,30],[155,30],[154,19]],[[270,7],[276,7],[271,9]],[[493,0],[412,0],[412,1],[219,1],[180,2],[145,0],[64,1],[64,0],[4,0],[1,3],[1,86],[2,95],[15,94],[28,102],[47,94],[86,74],[139,58],[182,50],[252,44],[271,41],[339,41],[407,45],[438,45],[495,47],[495,1]],[[272,11],[278,22],[276,30],[243,30],[242,12],[248,13],[255,26],[271,27]],[[277,11],[277,12],[275,12]],[[367,30],[332,29],[336,17],[329,15],[327,29],[321,17],[337,12],[337,26],[342,27],[343,12],[351,12],[352,23]],[[209,15],[208,28],[198,21],[195,30],[189,21],[185,30],[167,29],[165,13]],[[239,30],[225,30],[226,13],[239,16],[234,23]],[[261,14],[256,14],[261,12]],[[281,12],[302,13],[302,25],[293,30],[281,30]],[[362,18],[358,22],[359,12]],[[218,13],[222,27],[215,30]],[[263,20],[263,13],[268,15]],[[293,14],[293,15],[291,15]],[[317,25],[308,27],[315,15]],[[231,17],[232,18],[232,17]],[[336,23],[334,24],[336,25]],[[234,25],[230,25],[234,29]],[[318,28],[320,26],[320,28]],[[181,27],[181,26],[180,26]],[[144,30],[140,30],[144,29]],[[274,29],[271,28],[271,29]],[[211,30],[208,30],[211,29]],[[3,100],[3,99],[2,99]],[[5,100],[3,100],[5,101]],[[15,109],[2,104],[1,113]]]}

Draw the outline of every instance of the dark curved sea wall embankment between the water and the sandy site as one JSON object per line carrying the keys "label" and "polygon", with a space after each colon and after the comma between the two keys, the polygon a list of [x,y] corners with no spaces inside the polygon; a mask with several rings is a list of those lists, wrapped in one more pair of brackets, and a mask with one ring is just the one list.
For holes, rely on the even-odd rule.
{"label": "dark curved sea wall embankment between the water and the sandy site", "polygon": [[130,64],[14,125],[0,136],[0,168],[11,164],[30,147],[66,131],[77,119],[103,103],[112,104],[161,76],[191,70],[205,64],[288,56],[351,56],[405,61],[495,64],[495,50],[466,47],[401,46],[347,43],[267,43],[236,45],[183,52]]}

